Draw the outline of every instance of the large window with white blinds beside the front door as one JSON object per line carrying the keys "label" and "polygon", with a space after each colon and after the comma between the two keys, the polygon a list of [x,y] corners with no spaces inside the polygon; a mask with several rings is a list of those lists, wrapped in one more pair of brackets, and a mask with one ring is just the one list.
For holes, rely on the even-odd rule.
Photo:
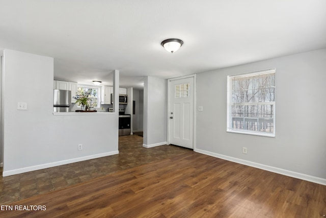
{"label": "large window with white blinds beside the front door", "polygon": [[275,69],[228,76],[227,131],[275,137]]}

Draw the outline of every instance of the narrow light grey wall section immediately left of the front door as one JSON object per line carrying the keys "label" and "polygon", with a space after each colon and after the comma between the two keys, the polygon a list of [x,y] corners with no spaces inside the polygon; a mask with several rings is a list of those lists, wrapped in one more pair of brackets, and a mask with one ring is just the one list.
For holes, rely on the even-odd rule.
{"label": "narrow light grey wall section immediately left of the front door", "polygon": [[144,80],[144,147],[167,144],[167,80]]}

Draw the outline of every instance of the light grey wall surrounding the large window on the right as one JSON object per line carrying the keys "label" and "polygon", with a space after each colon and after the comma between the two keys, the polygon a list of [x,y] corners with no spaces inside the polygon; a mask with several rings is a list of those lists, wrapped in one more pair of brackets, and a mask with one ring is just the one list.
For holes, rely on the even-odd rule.
{"label": "light grey wall surrounding the large window on the right", "polygon": [[[268,68],[276,68],[276,137],[227,133],[227,76]],[[323,49],[198,74],[196,151],[326,184],[325,69]]]}

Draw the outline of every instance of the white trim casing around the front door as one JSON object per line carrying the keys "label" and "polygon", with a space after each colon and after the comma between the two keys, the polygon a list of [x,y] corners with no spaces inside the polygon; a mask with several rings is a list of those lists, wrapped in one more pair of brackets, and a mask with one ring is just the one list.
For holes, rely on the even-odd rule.
{"label": "white trim casing around the front door", "polygon": [[[192,74],[192,75],[187,75],[187,76],[183,76],[183,77],[176,77],[176,78],[171,78],[168,79],[168,117],[170,117],[170,82],[174,81],[174,80],[182,80],[182,79],[186,79],[186,78],[193,78],[194,79],[194,121],[193,121],[193,148],[192,149],[196,149],[196,108],[197,108],[197,75],[196,74]],[[168,119],[168,144],[170,144],[170,119]]]}

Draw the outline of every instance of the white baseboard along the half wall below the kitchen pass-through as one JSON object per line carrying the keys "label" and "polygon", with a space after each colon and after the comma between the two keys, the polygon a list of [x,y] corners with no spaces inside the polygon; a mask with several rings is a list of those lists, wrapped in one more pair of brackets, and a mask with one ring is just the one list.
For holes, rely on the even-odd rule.
{"label": "white baseboard along the half wall below the kitchen pass-through", "polygon": [[60,166],[68,163],[75,163],[79,161],[84,161],[84,160],[90,160],[90,159],[95,159],[95,158],[100,158],[100,157],[106,157],[106,156],[111,156],[119,154],[119,151],[113,151],[113,152],[106,152],[106,153],[101,153],[101,154],[96,154],[96,155],[90,155],[90,156],[85,156],[85,157],[78,157],[78,158],[73,158],[73,159],[68,159],[68,160],[61,160],[57,162],[51,162],[51,163],[45,163],[45,164],[40,164],[40,165],[35,165],[35,166],[28,166],[24,168],[18,168],[18,169],[12,169],[10,171],[4,171],[3,172],[3,177],[5,176],[11,176],[15,174],[21,174],[21,173],[26,173],[30,171],[37,171],[38,169],[45,169],[53,166]]}

